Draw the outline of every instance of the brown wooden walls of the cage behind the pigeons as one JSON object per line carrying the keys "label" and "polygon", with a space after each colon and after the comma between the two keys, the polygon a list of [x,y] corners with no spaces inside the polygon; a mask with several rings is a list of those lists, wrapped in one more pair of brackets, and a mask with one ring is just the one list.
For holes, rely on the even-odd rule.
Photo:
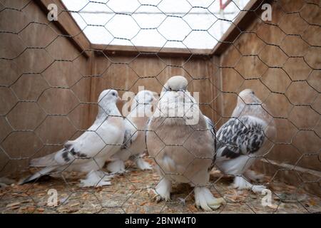
{"label": "brown wooden walls of the cage behind the pigeons", "polygon": [[[237,93],[255,90],[278,135],[255,169],[321,195],[319,1],[250,1],[212,51],[94,45],[61,1],[0,2],[0,176],[85,130],[101,90],[159,92],[170,76],[183,75],[217,128]],[[51,2],[60,9],[49,23]],[[269,23],[258,16],[264,2],[272,4]]]}

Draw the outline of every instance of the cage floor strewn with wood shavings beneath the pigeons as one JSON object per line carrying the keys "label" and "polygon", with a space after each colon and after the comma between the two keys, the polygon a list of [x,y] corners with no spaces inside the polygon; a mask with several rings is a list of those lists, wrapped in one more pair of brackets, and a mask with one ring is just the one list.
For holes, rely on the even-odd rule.
{"label": "cage floor strewn with wood shavings beneath the pigeons", "polygon": [[[128,164],[127,164],[128,165]],[[268,180],[268,177],[266,177]],[[231,177],[223,177],[219,171],[211,172],[211,187],[215,197],[223,196],[225,204],[206,213],[309,213],[321,212],[321,199],[297,187],[273,180],[269,189],[272,202],[263,206],[264,195],[249,190],[230,187]],[[169,202],[154,202],[151,187],[158,183],[156,172],[137,170],[129,165],[128,172],[111,180],[104,187],[78,187],[76,174],[63,178],[42,177],[39,182],[11,185],[0,189],[1,213],[204,213],[195,207],[193,188],[185,184],[173,184]],[[48,207],[48,191],[57,190],[58,205]]]}

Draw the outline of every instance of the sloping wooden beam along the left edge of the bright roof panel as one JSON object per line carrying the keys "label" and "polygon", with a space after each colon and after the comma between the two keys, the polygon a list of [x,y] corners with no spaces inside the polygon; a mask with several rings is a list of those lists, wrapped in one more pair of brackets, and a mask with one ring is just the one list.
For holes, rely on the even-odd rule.
{"label": "sloping wooden beam along the left edge of the bright roof panel", "polygon": [[49,13],[49,10],[47,9],[47,6],[49,4],[56,4],[58,6],[58,9],[62,9],[64,12],[61,14],[58,14],[58,21],[52,21],[52,23],[57,26],[59,30],[63,33],[63,35],[68,36],[68,39],[73,43],[74,46],[80,51],[83,56],[86,56],[88,58],[88,54],[86,53],[86,50],[88,50],[90,46],[90,42],[88,41],[88,38],[83,34],[83,31],[81,28],[79,28],[76,21],[73,19],[73,16],[66,11],[66,6],[62,3],[60,0],[52,1],[52,0],[34,0],[36,4],[40,7],[42,11],[44,11],[45,14]]}

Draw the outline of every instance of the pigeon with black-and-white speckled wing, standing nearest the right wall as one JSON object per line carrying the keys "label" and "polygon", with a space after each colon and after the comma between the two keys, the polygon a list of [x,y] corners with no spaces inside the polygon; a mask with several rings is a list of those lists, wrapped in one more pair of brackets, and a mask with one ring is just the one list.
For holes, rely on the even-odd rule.
{"label": "pigeon with black-and-white speckled wing, standing nearest the right wall", "polygon": [[264,185],[252,185],[255,175],[248,170],[253,162],[267,154],[276,137],[275,121],[253,90],[238,95],[238,103],[228,120],[217,133],[215,165],[226,175],[234,175],[233,187],[262,192]]}

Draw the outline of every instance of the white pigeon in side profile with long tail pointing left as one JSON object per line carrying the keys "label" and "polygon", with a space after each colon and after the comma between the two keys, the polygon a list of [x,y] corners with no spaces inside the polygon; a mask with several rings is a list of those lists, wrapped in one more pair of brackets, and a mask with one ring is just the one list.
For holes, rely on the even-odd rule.
{"label": "white pigeon in side profile with long tail pointing left", "polygon": [[58,152],[31,160],[31,167],[42,169],[21,184],[62,171],[87,173],[87,179],[81,180],[82,186],[110,184],[103,180],[105,173],[98,170],[123,143],[125,124],[116,106],[118,100],[121,98],[116,90],[103,90],[98,98],[98,115],[93,125],[76,140],[64,143]]}

